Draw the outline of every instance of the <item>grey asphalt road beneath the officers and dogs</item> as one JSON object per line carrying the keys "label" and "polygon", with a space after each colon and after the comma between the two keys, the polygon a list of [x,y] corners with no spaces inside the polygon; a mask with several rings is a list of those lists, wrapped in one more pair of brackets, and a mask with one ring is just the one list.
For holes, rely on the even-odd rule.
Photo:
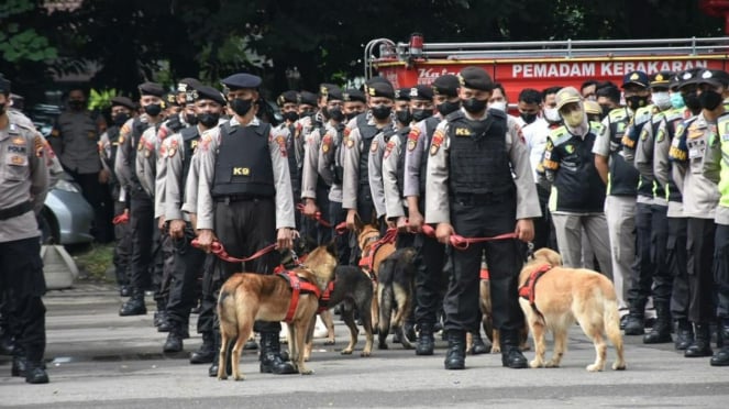
{"label": "grey asphalt road beneath the officers and dogs", "polygon": [[[264,375],[257,357],[244,352],[244,382],[207,376],[208,365],[190,365],[186,353],[165,355],[166,334],[152,327],[152,311],[119,317],[120,297],[107,285],[78,285],[45,297],[51,384],[11,378],[10,358],[0,356],[0,407],[12,408],[727,408],[729,368],[708,358],[684,358],[672,344],[643,345],[626,338],[628,371],[588,373],[594,347],[578,327],[570,334],[561,368],[508,369],[500,355],[466,358],[465,371],[444,371],[445,342],[433,356],[416,356],[399,344],[372,357],[341,355],[347,332],[336,321],[338,342],[317,340],[311,376]],[[147,306],[153,306],[147,297]],[[195,317],[195,316],[194,316]],[[191,332],[195,333],[194,322]],[[533,352],[528,352],[531,358]]]}

